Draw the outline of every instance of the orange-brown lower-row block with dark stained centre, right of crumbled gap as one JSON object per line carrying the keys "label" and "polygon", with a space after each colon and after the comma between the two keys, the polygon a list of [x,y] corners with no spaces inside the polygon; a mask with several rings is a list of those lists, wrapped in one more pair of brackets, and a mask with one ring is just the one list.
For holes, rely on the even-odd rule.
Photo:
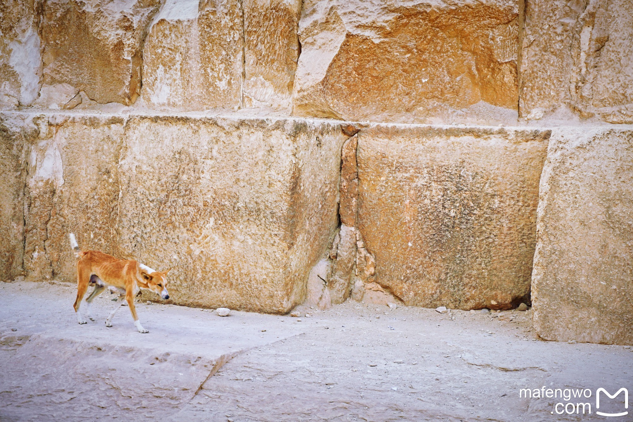
{"label": "orange-brown lower-row block with dark stained centre, right of crumbled gap", "polygon": [[425,307],[508,309],[528,297],[549,131],[379,125],[356,136],[375,282]]}

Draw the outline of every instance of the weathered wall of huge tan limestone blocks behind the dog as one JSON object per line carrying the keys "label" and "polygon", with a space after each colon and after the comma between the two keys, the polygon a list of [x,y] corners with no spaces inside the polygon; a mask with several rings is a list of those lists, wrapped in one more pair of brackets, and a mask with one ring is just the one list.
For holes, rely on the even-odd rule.
{"label": "weathered wall of huge tan limestone blocks behind the dog", "polygon": [[[632,344],[633,16],[609,0],[0,4],[0,279],[535,309]],[[627,237],[629,236],[629,237]]]}

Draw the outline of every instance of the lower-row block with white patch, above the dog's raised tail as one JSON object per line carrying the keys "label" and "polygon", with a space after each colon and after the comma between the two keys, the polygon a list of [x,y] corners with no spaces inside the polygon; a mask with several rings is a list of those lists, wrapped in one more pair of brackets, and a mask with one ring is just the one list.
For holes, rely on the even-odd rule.
{"label": "lower-row block with white patch, above the dog's raised tail", "polygon": [[26,181],[28,280],[77,280],[68,233],[80,247],[116,251],[123,118],[35,115]]}

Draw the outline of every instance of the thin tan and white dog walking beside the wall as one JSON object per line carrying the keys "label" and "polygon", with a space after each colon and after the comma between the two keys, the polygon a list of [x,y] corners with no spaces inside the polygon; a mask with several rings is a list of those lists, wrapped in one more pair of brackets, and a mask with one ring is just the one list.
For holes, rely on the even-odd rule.
{"label": "thin tan and white dog walking beside the wall", "polygon": [[70,247],[77,257],[77,299],[73,307],[77,313],[77,321],[85,324],[79,310],[82,299],[89,285],[94,285],[94,290],[85,300],[88,307],[88,318],[94,321],[91,305],[92,299],[97,297],[104,289],[109,289],[113,293],[118,293],[119,297],[110,316],[106,319],[106,326],[112,326],[112,318],[116,311],[123,304],[123,298],[127,301],[134,318],[134,325],[139,333],[149,333],[141,325],[139,316],[134,307],[134,297],[140,290],[151,290],[160,295],[163,299],[169,299],[167,292],[167,273],[154,271],[146,265],[137,263],[134,259],[116,259],[115,257],[99,251],[82,251],[79,249],[75,235],[70,233]]}

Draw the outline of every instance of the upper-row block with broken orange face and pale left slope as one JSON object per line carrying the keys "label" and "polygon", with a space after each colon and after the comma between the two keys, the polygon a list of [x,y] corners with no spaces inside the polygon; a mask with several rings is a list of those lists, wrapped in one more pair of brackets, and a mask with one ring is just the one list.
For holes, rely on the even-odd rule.
{"label": "upper-row block with broken orange face and pale left slope", "polygon": [[517,118],[518,1],[306,1],[294,114]]}

